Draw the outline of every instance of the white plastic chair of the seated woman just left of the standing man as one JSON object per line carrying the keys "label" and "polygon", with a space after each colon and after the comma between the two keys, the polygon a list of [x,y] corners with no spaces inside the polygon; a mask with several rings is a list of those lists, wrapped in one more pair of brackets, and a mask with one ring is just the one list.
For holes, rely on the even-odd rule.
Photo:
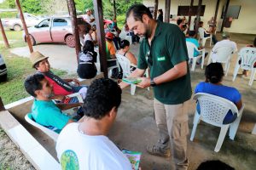
{"label": "white plastic chair of the seated woman just left of the standing man", "polygon": [[[127,59],[124,55],[121,54],[115,54],[116,58],[119,60],[119,64],[121,65],[123,69],[123,78],[129,77],[131,75],[131,62],[129,59]],[[148,69],[145,72],[146,77],[148,77]],[[135,94],[136,85],[131,84],[131,95]],[[149,90],[149,88],[148,88]]]}

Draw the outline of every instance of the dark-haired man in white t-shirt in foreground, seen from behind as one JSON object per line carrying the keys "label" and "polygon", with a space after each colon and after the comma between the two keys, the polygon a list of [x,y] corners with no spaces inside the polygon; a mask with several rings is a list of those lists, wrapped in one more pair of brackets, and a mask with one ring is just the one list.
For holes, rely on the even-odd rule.
{"label": "dark-haired man in white t-shirt in foreground, seen from behind", "polygon": [[84,100],[84,120],[64,127],[56,144],[62,169],[131,170],[131,163],[108,139],[121,103],[121,88],[107,78],[96,79]]}

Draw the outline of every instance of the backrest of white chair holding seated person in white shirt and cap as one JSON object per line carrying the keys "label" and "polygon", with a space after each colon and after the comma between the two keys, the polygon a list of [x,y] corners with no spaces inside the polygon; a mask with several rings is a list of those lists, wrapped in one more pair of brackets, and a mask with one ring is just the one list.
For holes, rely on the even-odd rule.
{"label": "backrest of white chair holding seated person in white shirt and cap", "polygon": [[212,62],[216,63],[226,63],[229,61],[231,54],[234,52],[234,49],[230,46],[223,46],[216,48],[212,53]]}

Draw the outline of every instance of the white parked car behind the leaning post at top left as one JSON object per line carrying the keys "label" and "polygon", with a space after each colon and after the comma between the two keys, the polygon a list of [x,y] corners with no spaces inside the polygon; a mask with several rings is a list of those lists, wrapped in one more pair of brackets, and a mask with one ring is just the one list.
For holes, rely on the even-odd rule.
{"label": "white parked car behind the leaning post at top left", "polygon": [[[36,24],[38,24],[38,21],[40,20],[40,18],[32,14],[24,13],[23,15],[27,27],[35,26]],[[15,31],[20,31],[21,29],[23,29],[23,25],[21,23],[19,16],[17,16],[15,19],[3,19],[2,22],[3,26],[6,27],[7,29]]]}

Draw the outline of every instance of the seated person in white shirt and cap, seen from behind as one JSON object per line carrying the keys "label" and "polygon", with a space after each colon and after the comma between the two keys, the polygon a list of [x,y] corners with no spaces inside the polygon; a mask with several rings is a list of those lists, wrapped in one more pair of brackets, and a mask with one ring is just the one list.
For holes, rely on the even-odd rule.
{"label": "seated person in white shirt and cap, seen from behind", "polygon": [[220,47],[230,47],[232,48],[233,53],[236,53],[237,51],[236,42],[230,41],[230,34],[228,32],[223,32],[222,38],[223,40],[217,42],[212,48],[212,59],[217,57],[218,54],[216,53],[216,49]]}

